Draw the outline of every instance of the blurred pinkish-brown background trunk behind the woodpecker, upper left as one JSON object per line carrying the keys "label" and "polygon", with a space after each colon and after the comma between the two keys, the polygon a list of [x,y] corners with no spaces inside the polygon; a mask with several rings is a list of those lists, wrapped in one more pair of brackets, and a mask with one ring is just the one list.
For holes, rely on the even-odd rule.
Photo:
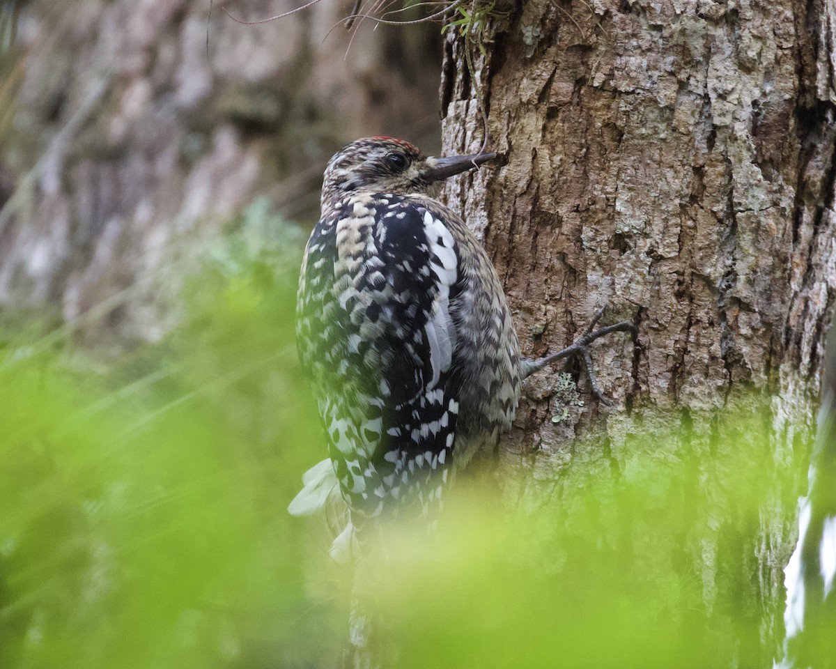
{"label": "blurred pinkish-brown background trunk behind the woodpecker, upper left", "polygon": [[209,6],[12,3],[0,308],[74,324],[98,350],[155,340],[176,322],[184,249],[217,237],[254,197],[316,220],[335,148],[362,135],[436,136],[426,106],[438,85],[437,65],[426,67],[440,63],[435,27],[364,25],[346,56],[342,28],[323,43],[344,19],[337,4],[260,25],[221,9],[257,20],[293,5],[216,0],[207,23]]}

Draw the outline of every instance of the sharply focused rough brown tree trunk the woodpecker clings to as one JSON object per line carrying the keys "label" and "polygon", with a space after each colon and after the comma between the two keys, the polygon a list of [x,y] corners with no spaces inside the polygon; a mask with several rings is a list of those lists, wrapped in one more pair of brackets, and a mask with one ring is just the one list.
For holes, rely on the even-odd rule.
{"label": "sharply focused rough brown tree trunk the woodpecker clings to", "polygon": [[[523,352],[563,348],[603,304],[603,322],[639,329],[635,349],[612,337],[594,350],[613,408],[582,375],[583,406],[553,371],[524,388],[501,445],[507,497],[568,504],[584,477],[616,482],[642,457],[689,463],[692,493],[716,505],[715,540],[688,548],[706,609],[742,551],[760,580],[744,599],[767,602],[774,641],[836,297],[833,4],[526,0],[497,3],[485,34],[475,78],[506,164],[446,196],[504,280]],[[482,143],[471,79],[449,40],[449,153]],[[798,477],[770,491],[757,536],[730,541],[711,472],[741,445],[718,420],[733,406],[772,437],[747,457]]]}

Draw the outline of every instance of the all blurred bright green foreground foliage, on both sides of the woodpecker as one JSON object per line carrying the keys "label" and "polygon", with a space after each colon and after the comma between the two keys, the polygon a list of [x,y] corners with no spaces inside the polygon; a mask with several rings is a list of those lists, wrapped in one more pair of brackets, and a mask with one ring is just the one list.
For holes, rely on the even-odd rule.
{"label": "all blurred bright green foreground foliage, on both sides of the woodpecker", "polygon": [[[302,246],[255,203],[187,282],[181,326],[104,374],[3,336],[4,669],[338,666],[349,570],[285,510],[324,457],[293,346]],[[781,602],[736,551],[781,472],[751,457],[767,435],[747,416],[717,426],[739,443],[706,453],[711,482],[628,457],[559,506],[461,485],[437,534],[391,529],[366,569],[396,666],[762,666]],[[706,604],[695,555],[723,550],[718,526]]]}

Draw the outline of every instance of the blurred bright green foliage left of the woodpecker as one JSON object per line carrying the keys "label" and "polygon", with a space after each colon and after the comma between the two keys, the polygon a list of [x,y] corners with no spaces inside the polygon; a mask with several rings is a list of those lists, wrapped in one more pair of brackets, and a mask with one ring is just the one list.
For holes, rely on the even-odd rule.
{"label": "blurred bright green foliage left of the woodpecker", "polygon": [[188,283],[181,328],[105,375],[6,333],[0,666],[333,656],[284,510],[321,456],[292,337],[302,237],[258,202]]}

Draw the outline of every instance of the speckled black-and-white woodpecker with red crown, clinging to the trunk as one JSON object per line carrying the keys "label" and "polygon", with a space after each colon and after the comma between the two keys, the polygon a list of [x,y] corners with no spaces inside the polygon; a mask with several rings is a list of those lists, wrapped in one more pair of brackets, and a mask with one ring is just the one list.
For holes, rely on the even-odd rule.
{"label": "speckled black-and-white woodpecker with red crown, clinging to the trunk", "polygon": [[484,160],[371,138],[325,172],[297,340],[355,521],[426,512],[451,468],[513,419],[519,345],[502,287],[461,218],[426,195]]}

